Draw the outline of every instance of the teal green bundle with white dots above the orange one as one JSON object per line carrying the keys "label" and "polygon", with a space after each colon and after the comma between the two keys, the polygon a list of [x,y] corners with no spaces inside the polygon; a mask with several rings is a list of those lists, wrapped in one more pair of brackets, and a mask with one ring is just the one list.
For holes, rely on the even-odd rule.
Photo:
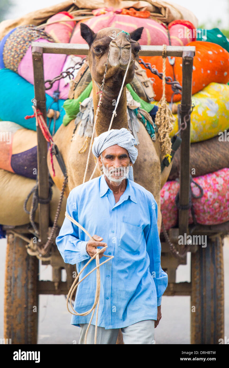
{"label": "teal green bundle with white dots above the orange one", "polygon": [[198,28],[196,40],[217,43],[217,45],[223,47],[229,52],[229,39],[219,30],[219,28]]}

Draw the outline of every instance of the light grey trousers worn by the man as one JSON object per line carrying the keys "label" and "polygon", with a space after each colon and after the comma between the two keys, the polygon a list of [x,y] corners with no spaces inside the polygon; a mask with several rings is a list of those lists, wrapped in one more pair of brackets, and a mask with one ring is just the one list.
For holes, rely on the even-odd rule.
{"label": "light grey trousers worn by the man", "polygon": [[[80,323],[79,344],[85,344],[85,333],[88,323]],[[119,328],[105,330],[97,327],[97,344],[116,344]],[[154,319],[146,319],[133,325],[121,328],[124,344],[155,344]],[[95,326],[90,325],[87,333],[87,344],[94,344]]]}

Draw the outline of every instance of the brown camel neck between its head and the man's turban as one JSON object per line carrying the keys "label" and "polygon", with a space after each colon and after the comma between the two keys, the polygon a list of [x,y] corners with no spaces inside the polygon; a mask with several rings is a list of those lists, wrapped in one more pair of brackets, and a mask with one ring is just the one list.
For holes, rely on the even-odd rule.
{"label": "brown camel neck between its head and the man's turban", "polygon": [[[112,88],[109,84],[104,85],[104,92],[99,107],[99,114],[96,123],[96,134],[97,136],[108,130],[111,122],[112,113],[115,109],[115,103],[118,98],[118,94],[121,88],[121,83],[111,83]],[[93,105],[94,105],[94,116],[96,116],[96,110],[99,103],[100,93],[99,87],[93,81]],[[111,129],[128,129],[128,119],[126,113],[126,87],[124,86],[120,100],[116,110],[117,116],[114,117]]]}

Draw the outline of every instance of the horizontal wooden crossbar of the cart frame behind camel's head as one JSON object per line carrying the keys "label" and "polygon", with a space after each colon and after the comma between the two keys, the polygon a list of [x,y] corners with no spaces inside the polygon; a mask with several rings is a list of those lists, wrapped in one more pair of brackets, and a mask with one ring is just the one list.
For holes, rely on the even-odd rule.
{"label": "horizontal wooden crossbar of the cart frame behind camel's head", "polygon": [[[37,42],[32,42],[33,47],[37,47]],[[42,47],[43,53],[48,54],[66,54],[66,55],[88,55],[89,46],[80,43],[45,43],[39,42],[39,47]],[[141,46],[139,56],[161,56],[163,46]],[[182,57],[183,52],[193,52],[195,54],[195,46],[167,46],[168,56],[180,56]]]}

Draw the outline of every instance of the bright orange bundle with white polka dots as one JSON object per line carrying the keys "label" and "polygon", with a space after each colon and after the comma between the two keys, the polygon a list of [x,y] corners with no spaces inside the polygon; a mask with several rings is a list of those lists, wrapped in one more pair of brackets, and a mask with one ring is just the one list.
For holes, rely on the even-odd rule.
{"label": "bright orange bundle with white polka dots", "polygon": [[[204,89],[211,82],[226,84],[229,82],[229,53],[221,46],[212,42],[193,41],[187,43],[186,46],[195,46],[196,54],[193,58],[193,84],[192,94]],[[145,62],[153,65],[159,72],[162,72],[162,57],[142,57]],[[182,85],[182,57],[175,57],[174,72],[176,80]],[[162,81],[150,70],[146,69],[148,77],[153,77],[155,83],[153,85],[156,101],[162,96]],[[173,78],[173,68],[166,59],[166,75]],[[171,85],[165,86],[165,96],[168,102],[171,101],[172,88]],[[181,100],[181,95],[175,95],[173,102]]]}

